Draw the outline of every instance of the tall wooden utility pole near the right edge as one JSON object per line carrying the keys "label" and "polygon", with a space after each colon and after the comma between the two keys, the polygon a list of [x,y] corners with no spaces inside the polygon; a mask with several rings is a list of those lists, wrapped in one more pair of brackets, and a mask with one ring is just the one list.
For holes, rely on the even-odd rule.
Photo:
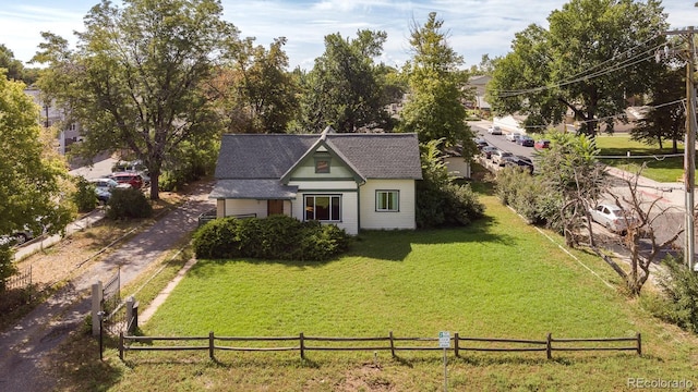
{"label": "tall wooden utility pole near the right edge", "polygon": [[[698,7],[698,3],[696,3]],[[694,86],[694,57],[696,53],[694,44],[694,26],[684,30],[666,32],[666,35],[686,35],[688,51],[686,51],[686,144],[684,146],[684,187],[686,189],[686,241],[684,244],[684,257],[690,270],[695,270],[695,219],[694,191],[696,187],[696,89]],[[681,51],[679,51],[681,52]]]}

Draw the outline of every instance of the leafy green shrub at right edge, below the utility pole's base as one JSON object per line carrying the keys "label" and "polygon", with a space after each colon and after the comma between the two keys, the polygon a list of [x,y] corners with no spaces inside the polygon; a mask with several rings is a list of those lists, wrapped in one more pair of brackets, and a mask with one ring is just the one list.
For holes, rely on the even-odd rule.
{"label": "leafy green shrub at right edge, below the utility pole's base", "polygon": [[698,333],[698,273],[691,271],[682,259],[667,257],[664,261],[669,274],[660,278],[660,286],[666,295],[667,307],[654,314]]}

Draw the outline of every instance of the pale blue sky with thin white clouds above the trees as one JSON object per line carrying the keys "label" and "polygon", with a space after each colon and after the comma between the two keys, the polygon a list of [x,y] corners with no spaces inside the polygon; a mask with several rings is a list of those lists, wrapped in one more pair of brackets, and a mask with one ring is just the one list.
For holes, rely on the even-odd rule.
{"label": "pale blue sky with thin white clouds above the trees", "polygon": [[[466,66],[479,64],[482,54],[505,56],[516,33],[531,23],[547,27],[547,16],[562,9],[563,0],[220,0],[224,19],[268,47],[276,37],[286,37],[290,69],[310,70],[322,56],[324,37],[339,33],[356,37],[359,29],[384,30],[383,56],[387,65],[400,66],[411,57],[410,26],[423,25],[436,12],[448,32],[448,44],[461,54]],[[43,41],[40,33],[51,32],[71,42],[73,32],[84,30],[83,17],[99,0],[0,0],[0,44],[26,64]],[[113,0],[120,3],[119,0]],[[694,0],[664,0],[672,29],[698,24]]]}

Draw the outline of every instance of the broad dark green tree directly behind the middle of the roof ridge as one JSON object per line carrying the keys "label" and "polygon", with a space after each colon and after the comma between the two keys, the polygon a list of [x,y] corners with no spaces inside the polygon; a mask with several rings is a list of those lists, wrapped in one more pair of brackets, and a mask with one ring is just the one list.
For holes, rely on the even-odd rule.
{"label": "broad dark green tree directly behind the middle of the roof ridge", "polygon": [[383,69],[373,59],[383,52],[385,32],[359,30],[357,38],[325,36],[325,52],[304,77],[303,126],[337,132],[384,127],[388,121]]}

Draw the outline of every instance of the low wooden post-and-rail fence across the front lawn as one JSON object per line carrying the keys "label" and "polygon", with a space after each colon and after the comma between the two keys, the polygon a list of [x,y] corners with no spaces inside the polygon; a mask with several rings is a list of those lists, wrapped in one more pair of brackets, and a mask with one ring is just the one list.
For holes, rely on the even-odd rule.
{"label": "low wooden post-and-rail fence across the front lawn", "polygon": [[[154,345],[154,342],[196,342],[195,345]],[[450,338],[453,342],[448,348],[440,347],[435,342],[438,338],[397,338],[389,332],[388,336],[378,338],[320,338],[305,336],[301,332],[297,336],[279,338],[231,338],[215,336],[213,332],[208,336],[129,336],[123,332],[119,335],[119,357],[123,360],[127,351],[208,351],[208,356],[215,359],[215,351],[239,351],[239,352],[280,352],[298,351],[301,358],[305,358],[309,351],[390,351],[390,355],[396,357],[398,351],[453,351],[459,357],[461,352],[545,352],[547,359],[553,357],[553,352],[581,352],[581,351],[633,351],[637,355],[642,355],[642,340],[638,333],[633,338],[594,338],[594,339],[553,339],[549,333],[544,340],[522,340],[522,339],[496,339],[496,338],[461,338],[458,332]],[[205,342],[198,344],[198,342]],[[226,342],[298,342],[289,346],[233,346],[226,345]],[[322,344],[324,345],[315,345]],[[357,342],[364,345],[341,345],[354,344]],[[434,345],[424,345],[424,342],[434,342]],[[626,342],[633,342],[633,345]],[[145,343],[148,345],[134,345],[134,343]],[[595,345],[588,345],[594,343]],[[290,343],[289,343],[290,344]]]}

